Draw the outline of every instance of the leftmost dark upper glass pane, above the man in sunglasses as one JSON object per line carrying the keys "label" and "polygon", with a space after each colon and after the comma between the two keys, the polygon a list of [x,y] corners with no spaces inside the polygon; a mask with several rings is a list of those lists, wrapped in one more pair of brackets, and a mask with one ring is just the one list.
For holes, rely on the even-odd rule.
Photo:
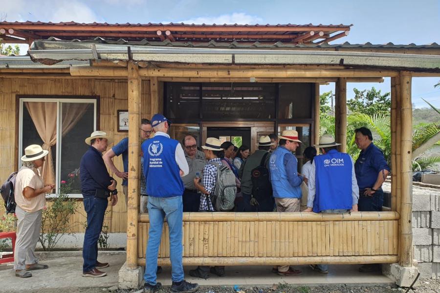
{"label": "leftmost dark upper glass pane, above the man in sunglasses", "polygon": [[173,121],[199,119],[200,87],[198,83],[167,83],[167,118]]}

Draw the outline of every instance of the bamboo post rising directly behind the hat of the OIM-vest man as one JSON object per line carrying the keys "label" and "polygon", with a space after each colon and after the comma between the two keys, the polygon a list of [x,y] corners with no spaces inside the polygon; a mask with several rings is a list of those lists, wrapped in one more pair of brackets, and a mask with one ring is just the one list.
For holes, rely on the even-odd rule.
{"label": "bamboo post rising directly behind the hat of the OIM-vest man", "polygon": [[336,142],[341,144],[339,150],[341,152],[347,152],[347,79],[346,78],[338,78],[336,82],[335,91],[336,91],[335,139]]}

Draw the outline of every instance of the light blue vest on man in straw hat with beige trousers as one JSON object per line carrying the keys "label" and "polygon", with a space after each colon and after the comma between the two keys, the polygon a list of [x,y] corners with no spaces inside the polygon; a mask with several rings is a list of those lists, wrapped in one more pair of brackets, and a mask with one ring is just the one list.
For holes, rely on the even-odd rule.
{"label": "light blue vest on man in straw hat with beige trousers", "polygon": [[[300,186],[293,187],[287,179],[286,167],[284,166],[284,156],[290,153],[284,147],[277,147],[270,156],[270,181],[272,183],[273,197],[279,198],[301,198],[302,191]],[[296,157],[294,156],[295,160]]]}

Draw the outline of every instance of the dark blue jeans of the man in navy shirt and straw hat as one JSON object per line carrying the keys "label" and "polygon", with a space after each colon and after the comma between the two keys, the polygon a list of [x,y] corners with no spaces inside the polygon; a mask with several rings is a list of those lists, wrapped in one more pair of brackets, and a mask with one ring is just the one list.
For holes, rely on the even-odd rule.
{"label": "dark blue jeans of the man in navy shirt and straw hat", "polygon": [[87,213],[87,229],[83,244],[83,272],[88,272],[96,267],[98,239],[109,202],[104,198],[86,196],[83,203]]}

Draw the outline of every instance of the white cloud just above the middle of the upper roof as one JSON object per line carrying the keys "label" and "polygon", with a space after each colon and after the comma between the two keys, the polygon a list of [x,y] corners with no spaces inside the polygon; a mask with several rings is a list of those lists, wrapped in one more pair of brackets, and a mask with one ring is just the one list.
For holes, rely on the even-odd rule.
{"label": "white cloud just above the middle of the upper roof", "polygon": [[263,21],[262,18],[248,15],[245,13],[233,13],[233,14],[223,14],[220,16],[207,16],[207,17],[197,17],[189,20],[178,21],[183,23],[195,23],[195,24],[257,24]]}

